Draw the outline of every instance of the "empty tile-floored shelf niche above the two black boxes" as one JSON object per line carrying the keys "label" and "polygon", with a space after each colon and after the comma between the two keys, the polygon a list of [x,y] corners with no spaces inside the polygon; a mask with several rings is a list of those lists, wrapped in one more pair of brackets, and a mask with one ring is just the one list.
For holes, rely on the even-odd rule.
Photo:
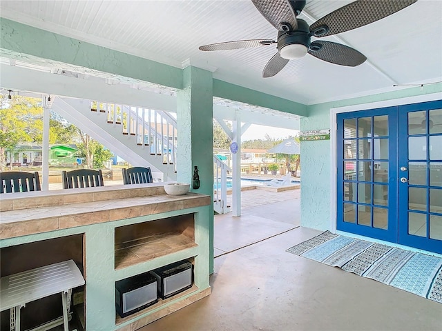
{"label": "empty tile-floored shelf niche above the two black boxes", "polygon": [[115,228],[115,269],[198,246],[194,214]]}

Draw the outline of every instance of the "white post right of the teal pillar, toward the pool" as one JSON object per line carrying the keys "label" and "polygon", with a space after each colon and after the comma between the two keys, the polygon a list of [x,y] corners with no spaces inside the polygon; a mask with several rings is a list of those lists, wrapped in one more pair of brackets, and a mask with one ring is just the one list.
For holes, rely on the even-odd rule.
{"label": "white post right of the teal pillar, toward the pool", "polygon": [[241,117],[239,110],[236,110],[235,121],[232,124],[232,142],[238,143],[238,152],[232,156],[232,213],[233,216],[241,216]]}

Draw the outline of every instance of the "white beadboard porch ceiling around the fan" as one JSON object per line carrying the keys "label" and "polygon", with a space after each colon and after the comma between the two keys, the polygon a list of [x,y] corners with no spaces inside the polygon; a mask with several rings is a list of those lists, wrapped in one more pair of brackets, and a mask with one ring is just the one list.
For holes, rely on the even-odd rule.
{"label": "white beadboard porch ceiling around the fan", "polygon": [[[311,24],[352,1],[307,0]],[[442,1],[412,6],[362,28],[326,37],[359,50],[367,61],[336,66],[307,54],[275,77],[261,78],[273,46],[202,52],[198,46],[240,39],[276,39],[277,31],[248,0],[0,1],[0,15],[44,30],[182,68],[305,104],[397,89],[394,84],[442,80]]]}

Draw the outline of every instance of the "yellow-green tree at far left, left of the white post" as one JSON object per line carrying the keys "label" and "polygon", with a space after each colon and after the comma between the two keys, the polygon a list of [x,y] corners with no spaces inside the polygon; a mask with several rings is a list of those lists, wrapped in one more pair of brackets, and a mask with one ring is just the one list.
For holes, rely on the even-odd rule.
{"label": "yellow-green tree at far left, left of the white post", "polygon": [[[14,154],[19,143],[41,143],[43,108],[38,99],[1,94],[0,170],[6,167],[6,153]],[[10,160],[12,168],[12,160]]]}

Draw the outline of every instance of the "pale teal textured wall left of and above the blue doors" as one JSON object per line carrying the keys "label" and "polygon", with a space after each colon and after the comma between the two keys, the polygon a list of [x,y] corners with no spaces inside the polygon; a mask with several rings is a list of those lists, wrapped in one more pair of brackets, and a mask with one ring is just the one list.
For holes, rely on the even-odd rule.
{"label": "pale teal textured wall left of and above the blue doors", "polygon": [[[301,118],[300,130],[331,128],[330,109],[402,99],[423,94],[442,92],[442,83],[408,88],[394,92],[373,94],[367,97],[320,103],[307,107],[308,117]],[[442,95],[441,95],[442,97]],[[330,226],[330,162],[334,150],[331,141],[302,141],[301,145],[301,225],[318,230],[332,230]]]}

